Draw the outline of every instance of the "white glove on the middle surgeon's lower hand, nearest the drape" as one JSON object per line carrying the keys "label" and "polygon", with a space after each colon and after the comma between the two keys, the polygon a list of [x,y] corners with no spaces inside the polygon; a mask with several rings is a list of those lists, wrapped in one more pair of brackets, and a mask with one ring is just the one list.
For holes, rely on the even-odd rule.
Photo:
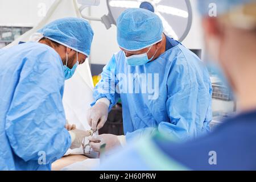
{"label": "white glove on the middle surgeon's lower hand, nearest the drape", "polygon": [[115,147],[125,146],[126,139],[124,135],[112,135],[112,134],[102,134],[95,135],[93,137],[88,137],[90,141],[90,147],[96,152],[100,152],[100,147],[102,144],[106,144],[105,151],[109,152]]}

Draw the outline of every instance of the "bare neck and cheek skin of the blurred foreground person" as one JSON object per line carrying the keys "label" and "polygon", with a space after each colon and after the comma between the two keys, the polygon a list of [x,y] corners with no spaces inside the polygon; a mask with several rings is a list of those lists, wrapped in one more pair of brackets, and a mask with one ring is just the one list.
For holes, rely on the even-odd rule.
{"label": "bare neck and cheek skin of the blurred foreground person", "polygon": [[256,110],[256,32],[222,25],[220,65],[237,98],[237,111]]}

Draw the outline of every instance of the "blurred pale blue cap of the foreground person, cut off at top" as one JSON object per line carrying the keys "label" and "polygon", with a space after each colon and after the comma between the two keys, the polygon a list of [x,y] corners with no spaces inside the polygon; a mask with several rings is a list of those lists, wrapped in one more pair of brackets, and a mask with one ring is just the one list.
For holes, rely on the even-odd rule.
{"label": "blurred pale blue cap of the foreground person, cut off at top", "polygon": [[[198,9],[201,15],[207,16],[211,9],[210,5],[216,5],[217,16],[228,13],[234,7],[246,3],[255,2],[255,0],[197,0]],[[213,3],[213,4],[212,4]]]}

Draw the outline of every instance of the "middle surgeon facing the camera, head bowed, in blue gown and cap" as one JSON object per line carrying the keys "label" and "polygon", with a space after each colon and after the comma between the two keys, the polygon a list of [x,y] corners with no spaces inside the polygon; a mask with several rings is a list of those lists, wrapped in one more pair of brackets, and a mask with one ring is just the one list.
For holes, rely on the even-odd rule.
{"label": "middle surgeon facing the camera, head bowed, in blue gown and cap", "polygon": [[117,20],[115,53],[101,73],[88,114],[93,130],[104,126],[119,98],[125,136],[89,138],[91,147],[106,151],[150,135],[155,130],[174,140],[209,131],[212,85],[203,62],[163,33],[159,16],[145,9],[125,10]]}

